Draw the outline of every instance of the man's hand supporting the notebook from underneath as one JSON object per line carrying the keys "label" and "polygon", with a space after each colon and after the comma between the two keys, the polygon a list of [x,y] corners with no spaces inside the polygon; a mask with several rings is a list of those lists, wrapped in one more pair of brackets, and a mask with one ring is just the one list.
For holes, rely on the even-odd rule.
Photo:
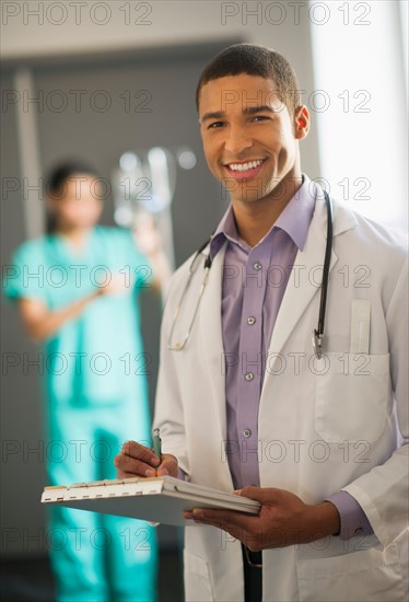
{"label": "man's hand supporting the notebook from underneath", "polygon": [[339,513],[330,502],[308,506],[294,494],[274,488],[245,487],[238,494],[261,502],[258,517],[208,508],[184,517],[227,531],[253,552],[308,543],[339,531]]}

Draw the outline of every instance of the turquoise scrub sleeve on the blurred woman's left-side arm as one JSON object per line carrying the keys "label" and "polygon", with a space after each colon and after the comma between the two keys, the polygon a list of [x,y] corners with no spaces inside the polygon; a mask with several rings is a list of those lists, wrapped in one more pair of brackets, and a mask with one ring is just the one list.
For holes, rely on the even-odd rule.
{"label": "turquoise scrub sleeve on the blurred woman's left-side arm", "polygon": [[37,246],[34,241],[24,243],[3,266],[2,290],[8,299],[47,300],[46,265]]}

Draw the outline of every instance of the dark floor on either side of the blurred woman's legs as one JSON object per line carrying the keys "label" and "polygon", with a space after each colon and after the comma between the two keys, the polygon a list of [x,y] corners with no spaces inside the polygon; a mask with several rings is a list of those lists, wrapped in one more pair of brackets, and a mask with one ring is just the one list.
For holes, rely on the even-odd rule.
{"label": "dark floor on either side of the blurred woman's legs", "polygon": [[[180,552],[161,551],[157,587],[157,602],[183,602]],[[1,602],[54,602],[52,572],[48,559],[27,558],[1,562],[0,600]]]}

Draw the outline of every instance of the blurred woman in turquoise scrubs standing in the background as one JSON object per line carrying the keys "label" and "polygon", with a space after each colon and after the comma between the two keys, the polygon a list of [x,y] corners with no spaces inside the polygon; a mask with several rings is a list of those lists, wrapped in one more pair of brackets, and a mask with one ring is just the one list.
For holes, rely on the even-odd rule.
{"label": "blurred woman in turquoise scrubs standing in the background", "polygon": [[[130,231],[96,225],[98,186],[87,165],[54,171],[51,231],[16,251],[19,276],[5,290],[46,355],[52,485],[115,478],[121,444],[135,433],[148,444],[151,439],[137,296],[164,278],[166,263],[157,251],[142,255]],[[49,529],[52,542],[61,542],[51,546],[60,602],[156,599],[156,539],[148,523],[54,508]]]}

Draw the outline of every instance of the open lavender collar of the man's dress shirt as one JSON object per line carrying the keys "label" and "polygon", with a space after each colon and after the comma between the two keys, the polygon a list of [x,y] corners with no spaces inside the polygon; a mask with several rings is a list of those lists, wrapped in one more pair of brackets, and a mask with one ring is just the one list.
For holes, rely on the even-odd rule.
{"label": "open lavender collar of the man's dress shirt", "polygon": [[[315,199],[316,186],[308,176],[303,174],[301,187],[258,244],[261,244],[274,228],[280,228],[280,230],[287,232],[297,248],[303,251],[314,213]],[[210,243],[210,256],[212,259],[226,241],[239,245],[246,252],[250,250],[248,244],[238,235],[232,205],[229,206],[227,211],[224,213],[212,236]]]}

